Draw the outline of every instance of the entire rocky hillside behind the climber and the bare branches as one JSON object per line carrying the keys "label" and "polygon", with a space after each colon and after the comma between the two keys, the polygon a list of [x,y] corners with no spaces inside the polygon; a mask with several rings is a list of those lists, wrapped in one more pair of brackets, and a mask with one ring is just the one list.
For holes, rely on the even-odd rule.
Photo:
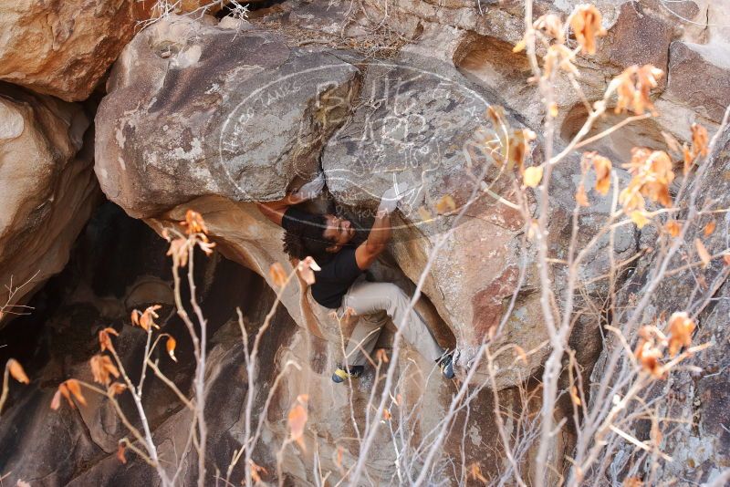
{"label": "entire rocky hillside behind the climber and the bare branches", "polygon": [[[536,1],[534,17],[566,18],[579,3]],[[106,399],[87,395],[89,404],[78,409],[48,406],[64,380],[92,381],[89,358],[108,326],[123,331],[117,347],[130,376],[143,374],[146,336],[130,325],[132,309],[162,305],[162,331],[185,336],[159,235],[180,228],[189,210],[202,215],[218,251],[201,255],[204,264],[194,271],[209,326],[205,485],[217,485],[215,475],[223,482],[241,451],[249,397],[263,427],[252,458],[265,470],[239,461],[228,472],[235,484],[252,468],[261,482],[285,485],[579,484],[586,472],[571,471],[580,456],[574,452],[590,451],[600,439],[574,419],[589,424],[581,418],[590,411],[620,402],[640,326],[681,311],[699,324],[692,343],[712,347],[644,391],[654,418],[678,422],[660,428],[642,416],[611,425],[626,431],[612,433],[611,454],[591,464],[587,479],[722,482],[730,467],[730,264],[723,261],[730,260],[730,129],[718,133],[701,171],[669,187],[676,212],[595,237],[575,289],[580,312],[563,340],[571,353],[558,358],[565,367],[556,380],[567,392],[550,413],[561,427],[549,440],[547,467],[535,419],[558,345],[546,309],[564,309],[563,295],[574,291],[563,264],[617,211],[612,194],[592,192],[589,206],[576,212],[580,155],[597,150],[614,161],[618,184],[631,179],[621,164],[631,161],[632,148],[692,143],[694,124],[712,137],[730,105],[730,5],[597,1],[605,36],[594,55],[575,58],[581,90],[557,78],[555,115],[547,117],[543,95],[528,82],[528,53],[514,48],[525,34],[524,2],[288,0],[255,2],[245,18],[235,5],[206,10],[196,2],[162,18],[133,0],[62,4],[0,5],[0,355],[4,363],[15,357],[31,378],[11,384],[1,411],[3,482],[160,483],[130,449],[126,462],[118,458],[127,429]],[[503,178],[474,148],[485,147],[495,130],[489,114],[503,107],[512,133],[537,133],[526,163],[541,164],[548,147],[563,150],[581,135],[612,78],[648,64],[664,73],[651,93],[656,116],[623,124],[626,116],[611,107],[582,134],[588,142],[552,171],[545,245],[555,264],[547,271],[550,292],[558,298],[548,305],[539,239],[530,230],[545,199]],[[395,376],[392,400],[364,455],[363,431],[379,412],[380,399],[372,398],[390,386],[380,368],[352,388],[332,383],[351,324],[343,327],[318,306],[302,279],[275,297],[269,268],[280,263],[293,272],[297,263],[282,250],[282,230],[255,206],[320,173],[326,190],[310,208],[335,208],[363,228],[393,181],[417,188],[372,274],[409,295],[418,286],[416,309],[444,347],[458,350],[454,383],[407,345],[385,364]],[[517,201],[517,193],[524,202],[504,203]],[[674,248],[662,240],[668,215],[694,223],[665,259]],[[697,241],[709,258],[702,266],[692,264]],[[261,343],[257,387],[249,388],[236,307],[244,333],[255,337],[275,299],[281,306]],[[633,362],[626,353],[616,358],[624,344],[606,325],[617,322],[633,324],[623,330]],[[379,339],[386,358],[393,331]],[[193,345],[179,341],[177,363],[164,354],[156,359],[190,396]],[[485,355],[486,343],[494,357]],[[575,387],[572,370],[582,372]],[[190,410],[162,382],[150,384],[143,406],[160,458],[180,465],[177,483],[193,485],[200,466],[194,450],[183,449]],[[308,397],[307,420],[295,443],[290,411],[301,395]],[[576,404],[591,409],[578,412]],[[135,405],[122,396],[120,409],[131,415]],[[505,432],[514,451],[506,452]],[[442,446],[430,449],[436,442]],[[663,459],[658,467],[655,457]],[[367,474],[347,481],[360,463]],[[514,471],[522,472],[518,482]]]}

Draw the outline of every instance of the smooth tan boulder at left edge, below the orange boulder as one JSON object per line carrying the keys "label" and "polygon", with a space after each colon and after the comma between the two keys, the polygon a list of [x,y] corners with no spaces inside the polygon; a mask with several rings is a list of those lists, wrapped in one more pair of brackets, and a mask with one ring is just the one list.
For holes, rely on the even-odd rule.
{"label": "smooth tan boulder at left edge, below the orange boulder", "polygon": [[[93,131],[78,105],[0,85],[0,303],[24,312],[26,295],[57,274],[99,201]],[[10,286],[13,293],[5,286]],[[22,287],[16,290],[16,286]]]}

